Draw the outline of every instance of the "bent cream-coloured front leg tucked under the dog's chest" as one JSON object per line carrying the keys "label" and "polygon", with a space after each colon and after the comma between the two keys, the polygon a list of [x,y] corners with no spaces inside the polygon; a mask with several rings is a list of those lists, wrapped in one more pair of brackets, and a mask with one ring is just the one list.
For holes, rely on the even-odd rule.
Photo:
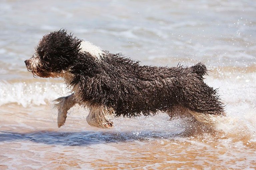
{"label": "bent cream-coloured front leg tucked under the dog's chest", "polygon": [[86,117],[89,125],[98,128],[111,128],[113,126],[110,119],[114,116],[114,109],[103,105],[93,105],[89,108],[89,115]]}

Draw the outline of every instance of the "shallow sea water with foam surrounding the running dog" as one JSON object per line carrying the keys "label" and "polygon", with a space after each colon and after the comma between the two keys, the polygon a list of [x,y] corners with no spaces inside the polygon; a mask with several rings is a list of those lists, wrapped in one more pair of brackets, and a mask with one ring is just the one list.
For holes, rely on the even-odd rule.
{"label": "shallow sea water with foam surrounding the running dog", "polygon": [[[0,169],[256,169],[256,1],[0,1]],[[61,79],[34,78],[24,60],[66,28],[142,65],[204,63],[226,117],[114,118],[86,123],[75,106],[57,127]]]}

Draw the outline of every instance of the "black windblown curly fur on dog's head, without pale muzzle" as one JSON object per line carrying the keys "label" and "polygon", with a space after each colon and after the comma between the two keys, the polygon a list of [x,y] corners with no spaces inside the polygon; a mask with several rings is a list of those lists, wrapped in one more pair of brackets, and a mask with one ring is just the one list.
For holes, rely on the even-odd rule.
{"label": "black windblown curly fur on dog's head, without pale muzzle", "polygon": [[45,70],[59,72],[74,64],[82,40],[67,34],[65,30],[43,36],[36,47]]}

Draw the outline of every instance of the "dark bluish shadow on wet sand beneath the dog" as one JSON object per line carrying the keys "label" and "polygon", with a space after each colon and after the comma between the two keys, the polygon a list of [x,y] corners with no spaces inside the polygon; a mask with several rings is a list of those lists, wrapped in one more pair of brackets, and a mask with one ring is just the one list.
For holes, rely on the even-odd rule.
{"label": "dark bluish shadow on wet sand beneath the dog", "polygon": [[84,131],[84,132],[53,132],[36,131],[31,133],[16,133],[12,131],[1,131],[0,142],[5,141],[33,141],[50,145],[86,146],[100,143],[117,143],[130,141],[146,141],[150,139],[164,138],[173,139],[175,137],[187,136],[184,132],[166,131]]}

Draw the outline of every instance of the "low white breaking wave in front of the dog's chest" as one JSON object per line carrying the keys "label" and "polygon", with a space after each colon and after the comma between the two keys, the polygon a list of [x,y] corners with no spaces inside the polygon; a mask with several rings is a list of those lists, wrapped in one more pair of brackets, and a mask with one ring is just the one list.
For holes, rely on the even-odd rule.
{"label": "low white breaking wave in front of the dog's chest", "polygon": [[0,106],[17,103],[23,107],[45,105],[58,97],[67,95],[65,83],[17,82],[0,80]]}

